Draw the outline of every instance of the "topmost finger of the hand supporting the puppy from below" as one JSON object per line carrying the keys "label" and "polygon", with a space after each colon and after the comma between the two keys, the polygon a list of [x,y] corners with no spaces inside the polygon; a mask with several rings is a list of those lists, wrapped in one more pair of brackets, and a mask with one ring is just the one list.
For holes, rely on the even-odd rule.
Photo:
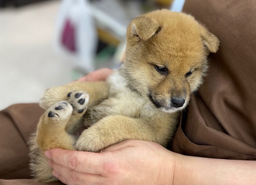
{"label": "topmost finger of the hand supporting the puppy from below", "polygon": [[107,163],[104,155],[100,153],[71,151],[59,148],[45,151],[45,156],[54,163],[78,172],[90,174],[102,174]]}

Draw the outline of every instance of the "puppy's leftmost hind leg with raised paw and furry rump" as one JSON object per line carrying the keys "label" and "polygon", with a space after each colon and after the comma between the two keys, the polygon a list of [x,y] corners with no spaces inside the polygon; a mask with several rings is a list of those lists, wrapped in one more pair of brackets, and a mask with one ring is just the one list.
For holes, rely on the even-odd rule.
{"label": "puppy's leftmost hind leg with raised paw and furry rump", "polygon": [[65,131],[72,111],[73,108],[69,102],[59,101],[41,116],[36,136],[30,141],[30,169],[37,181],[58,181],[52,175],[52,169],[47,165],[48,159],[44,156],[45,150],[50,148],[75,150],[73,146],[75,139]]}

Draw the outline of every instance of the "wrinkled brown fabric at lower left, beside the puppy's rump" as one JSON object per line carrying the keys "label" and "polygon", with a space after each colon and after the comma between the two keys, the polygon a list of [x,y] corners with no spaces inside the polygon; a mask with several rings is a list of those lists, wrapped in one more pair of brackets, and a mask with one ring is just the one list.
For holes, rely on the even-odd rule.
{"label": "wrinkled brown fabric at lower left, beside the puppy's rump", "polygon": [[[30,179],[27,142],[43,113],[38,104],[16,104],[0,111],[1,185],[41,185]],[[53,182],[49,185],[60,184],[63,183]]]}

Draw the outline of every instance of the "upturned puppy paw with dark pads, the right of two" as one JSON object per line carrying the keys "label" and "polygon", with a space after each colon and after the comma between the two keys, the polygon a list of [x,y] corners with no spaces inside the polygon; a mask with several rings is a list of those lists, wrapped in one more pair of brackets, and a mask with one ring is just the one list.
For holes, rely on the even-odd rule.
{"label": "upturned puppy paw with dark pads, the right of two", "polygon": [[85,91],[73,91],[67,94],[68,101],[73,107],[73,113],[82,114],[89,103],[89,95]]}

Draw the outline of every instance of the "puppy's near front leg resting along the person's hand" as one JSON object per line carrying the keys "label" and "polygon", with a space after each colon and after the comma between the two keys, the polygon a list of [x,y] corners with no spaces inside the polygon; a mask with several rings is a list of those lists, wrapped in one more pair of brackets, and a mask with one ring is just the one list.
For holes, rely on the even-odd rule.
{"label": "puppy's near front leg resting along the person's hand", "polygon": [[82,132],[76,149],[98,152],[126,139],[153,141],[165,146],[174,133],[176,118],[176,114],[164,113],[147,119],[107,116]]}

